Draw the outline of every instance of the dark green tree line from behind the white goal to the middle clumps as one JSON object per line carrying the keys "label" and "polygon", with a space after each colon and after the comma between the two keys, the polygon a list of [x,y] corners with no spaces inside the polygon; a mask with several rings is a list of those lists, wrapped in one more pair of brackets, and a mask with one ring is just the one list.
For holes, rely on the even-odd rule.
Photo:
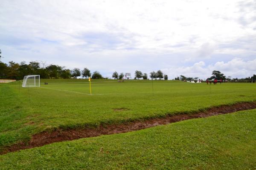
{"label": "dark green tree line from behind the white goal to the middle clumps", "polygon": [[[31,61],[29,63],[26,63],[25,61],[21,63],[10,61],[8,64],[0,61],[0,79],[21,80],[25,75],[40,75],[40,78],[77,78],[81,76],[82,78],[91,77],[93,79],[108,79],[107,77],[104,78],[99,71],[91,73],[88,68],[84,68],[83,70],[74,68],[70,70],[66,69],[65,66],[58,66],[55,64],[45,66],[45,63],[39,63],[37,61]],[[113,72],[112,78],[123,79],[124,76],[123,72],[118,74],[115,71]],[[134,73],[134,79],[140,78],[147,80],[148,75],[147,73],[142,73],[141,71],[136,70]],[[161,70],[151,72],[150,78],[164,78],[165,80],[168,80],[168,76],[163,75]]]}

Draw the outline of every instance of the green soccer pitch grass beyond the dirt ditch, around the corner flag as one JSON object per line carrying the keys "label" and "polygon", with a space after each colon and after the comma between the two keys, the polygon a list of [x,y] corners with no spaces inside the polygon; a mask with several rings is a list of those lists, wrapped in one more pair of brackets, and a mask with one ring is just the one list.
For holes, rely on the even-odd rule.
{"label": "green soccer pitch grass beyond the dirt ditch, around the corner flag", "polygon": [[40,88],[0,84],[0,147],[54,128],[97,127],[256,100],[256,84],[250,83],[154,81],[152,94],[152,81],[102,81],[110,80],[93,80],[93,95],[84,80],[41,80],[49,84]]}

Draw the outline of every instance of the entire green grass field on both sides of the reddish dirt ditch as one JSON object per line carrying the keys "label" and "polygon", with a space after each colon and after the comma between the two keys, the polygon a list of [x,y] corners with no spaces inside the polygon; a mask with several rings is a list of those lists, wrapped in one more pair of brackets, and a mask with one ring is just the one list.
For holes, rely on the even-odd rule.
{"label": "entire green grass field on both sides of the reddish dirt ditch", "polygon": [[[93,95],[90,95],[86,80],[52,79],[41,82],[49,84],[41,84],[40,88],[22,88],[20,81],[0,84],[1,150],[20,141],[27,142],[33,134],[45,130],[96,128],[100,124],[122,124],[165,115],[191,114],[212,106],[256,101],[256,84],[251,83],[207,85],[181,81],[93,80]],[[52,167],[56,169],[60,168],[58,166],[63,162],[74,169],[166,169],[168,166],[208,169],[211,164],[214,169],[218,166],[224,167],[224,160],[229,155],[234,156],[234,160],[238,160],[243,154],[248,157],[240,158],[238,162],[229,160],[227,167],[236,168],[250,160],[252,154],[255,155],[252,151],[255,150],[255,137],[252,135],[252,131],[256,132],[255,112],[253,110],[239,112],[236,114],[238,116],[223,115],[217,116],[218,118],[190,120],[144,131],[61,142],[9,153],[0,156],[0,167],[27,169],[26,166],[31,163],[28,168],[34,169],[39,168],[36,164],[42,159],[42,166],[44,165],[45,169],[48,161],[52,161]],[[200,128],[196,127],[196,122],[201,124],[198,125]],[[205,128],[207,130],[204,130]],[[208,130],[211,131],[209,134]],[[236,139],[237,135],[241,140]],[[188,136],[191,138],[187,139]],[[128,138],[133,140],[130,141]],[[218,143],[221,138],[224,140]],[[234,143],[233,139],[239,143]],[[101,145],[103,149],[98,151]],[[69,154],[74,155],[74,158],[70,159],[74,161],[73,164],[67,161]],[[35,157],[33,161],[30,155]],[[60,158],[61,156],[63,157]],[[55,158],[60,161],[53,162]],[[255,159],[255,156],[252,158]],[[22,161],[17,163],[17,167],[13,167],[16,159]],[[208,159],[216,159],[218,163]],[[250,161],[252,163],[247,162],[241,169],[255,168],[255,161]],[[140,164],[136,165],[138,162]]]}

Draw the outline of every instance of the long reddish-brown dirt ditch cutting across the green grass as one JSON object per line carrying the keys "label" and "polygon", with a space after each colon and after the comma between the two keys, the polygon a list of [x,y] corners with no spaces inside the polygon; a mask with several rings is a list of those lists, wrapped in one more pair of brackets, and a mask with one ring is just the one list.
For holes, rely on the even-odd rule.
{"label": "long reddish-brown dirt ditch cutting across the green grass", "polygon": [[[82,130],[55,130],[53,132],[42,132],[32,136],[29,143],[14,144],[0,153],[5,154],[8,152],[14,152],[17,150],[23,150],[33,147],[40,147],[46,144],[51,144],[59,141],[71,141],[79,138],[88,138],[100,135],[110,135],[115,133],[125,133],[134,130],[141,130],[148,127],[154,127],[162,124],[169,124],[177,121],[183,121],[192,118],[205,118],[212,115],[226,114],[241,110],[255,109],[256,102],[243,102],[233,105],[224,105],[221,107],[212,107],[203,112],[195,112],[194,114],[178,114],[178,115],[166,115],[164,118],[151,118],[143,121],[134,121],[126,124],[111,124],[100,125],[95,129],[82,129]],[[120,108],[123,109],[123,108]]]}

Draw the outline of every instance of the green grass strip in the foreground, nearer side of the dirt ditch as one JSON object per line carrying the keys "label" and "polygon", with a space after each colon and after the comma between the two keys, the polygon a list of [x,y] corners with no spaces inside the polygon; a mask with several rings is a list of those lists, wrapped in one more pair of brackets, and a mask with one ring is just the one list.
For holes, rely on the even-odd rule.
{"label": "green grass strip in the foreground, nearer side of the dirt ditch", "polygon": [[1,169],[256,169],[256,109],[0,156]]}

